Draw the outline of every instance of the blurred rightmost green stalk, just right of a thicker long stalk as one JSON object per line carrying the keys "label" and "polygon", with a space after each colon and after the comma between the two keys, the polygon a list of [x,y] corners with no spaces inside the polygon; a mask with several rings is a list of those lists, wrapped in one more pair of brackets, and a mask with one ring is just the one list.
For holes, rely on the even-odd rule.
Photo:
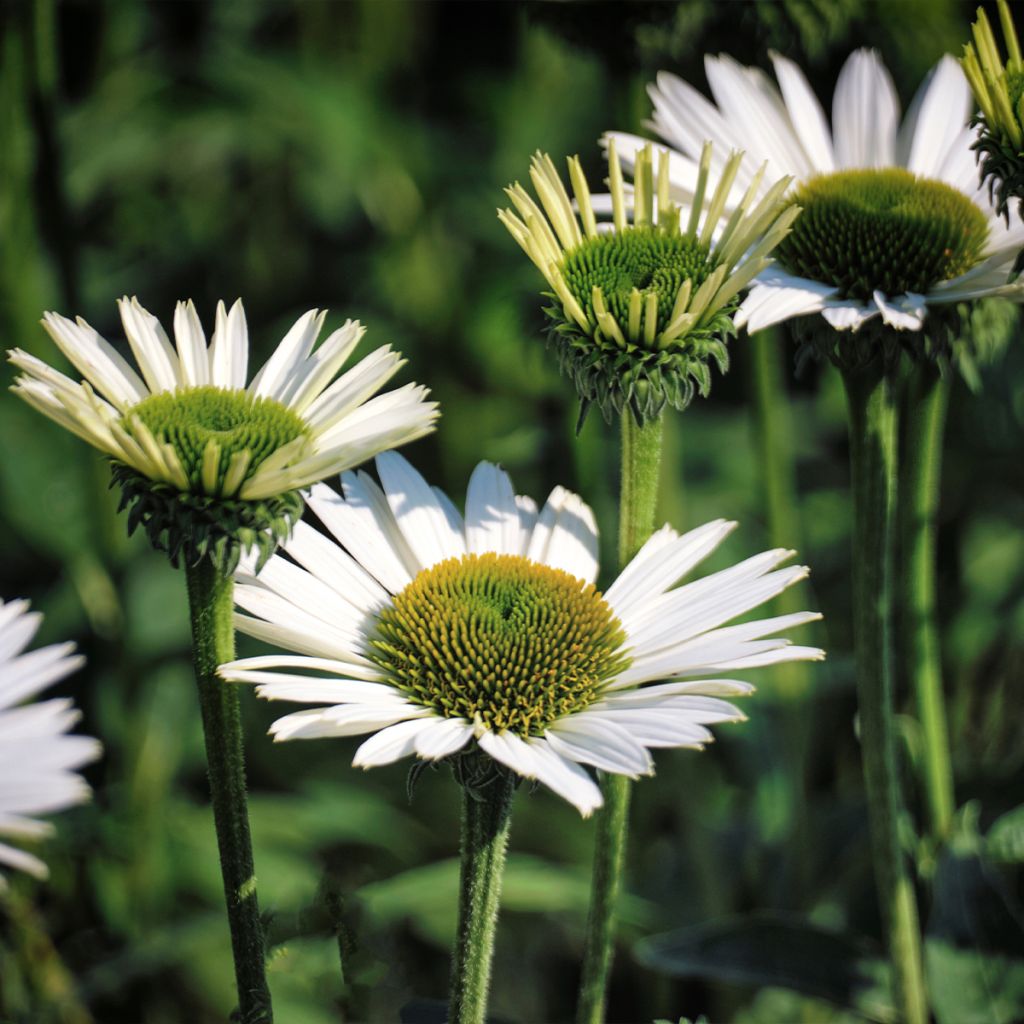
{"label": "blurred rightmost green stalk, just right of a thicker long stalk", "polygon": [[949,831],[955,806],[935,599],[935,520],[949,382],[950,375],[931,364],[914,367],[904,389],[900,467],[904,663],[918,701],[925,802],[936,840]]}

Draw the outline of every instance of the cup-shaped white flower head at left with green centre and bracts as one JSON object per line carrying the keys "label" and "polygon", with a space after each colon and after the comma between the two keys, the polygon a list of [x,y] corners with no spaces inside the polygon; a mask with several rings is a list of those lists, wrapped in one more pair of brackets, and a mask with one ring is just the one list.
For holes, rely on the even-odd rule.
{"label": "cup-shaped white flower head at left with green centre and bracts", "polygon": [[142,522],[173,560],[229,569],[240,548],[268,555],[301,515],[300,488],[433,429],[425,388],[371,397],[402,366],[390,346],[335,380],[362,337],[356,321],[314,351],[327,314],[311,309],[247,385],[241,300],[218,303],[209,347],[190,301],[175,309],[176,346],[136,299],[119,306],[138,372],[85,321],[50,312],[43,327],[85,380],[15,349],[13,390],[110,456],[129,527]]}

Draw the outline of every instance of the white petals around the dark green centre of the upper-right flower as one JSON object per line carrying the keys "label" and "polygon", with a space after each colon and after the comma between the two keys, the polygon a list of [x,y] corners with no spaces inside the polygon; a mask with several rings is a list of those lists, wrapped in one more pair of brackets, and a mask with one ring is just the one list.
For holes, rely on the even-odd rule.
{"label": "white petals around the dark green centre of the upper-right flower", "polygon": [[[751,158],[749,167],[768,160],[772,174],[792,175],[795,187],[819,174],[842,170],[905,168],[958,189],[985,216],[988,240],[979,265],[986,270],[979,275],[976,266],[934,284],[925,295],[879,291],[869,300],[857,300],[839,298],[831,284],[787,274],[776,264],[754,281],[736,314],[737,327],[755,332],[796,316],[821,315],[837,331],[855,332],[872,319],[898,331],[920,331],[932,305],[996,295],[1024,302],[1024,288],[1010,280],[1024,240],[1013,237],[1020,225],[998,217],[991,197],[980,186],[972,150],[978,129],[968,124],[973,110],[971,89],[956,60],[944,56],[935,66],[901,124],[896,90],[879,54],[853,52],[836,83],[829,127],[803,72],[779,54],[771,58],[777,87],[758,69],[742,68],[730,57],[707,57],[715,102],[676,76],[658,74],[649,87],[650,127],[676,151],[669,163],[673,197],[692,195],[707,140],[719,154],[730,146],[743,148]],[[608,132],[605,137],[618,140],[627,167],[644,144],[643,139],[624,133]],[[761,184],[762,191],[773,180],[772,174]],[[748,183],[741,170],[737,188]],[[594,205],[601,200],[594,197]],[[734,188],[729,208],[738,202]]]}

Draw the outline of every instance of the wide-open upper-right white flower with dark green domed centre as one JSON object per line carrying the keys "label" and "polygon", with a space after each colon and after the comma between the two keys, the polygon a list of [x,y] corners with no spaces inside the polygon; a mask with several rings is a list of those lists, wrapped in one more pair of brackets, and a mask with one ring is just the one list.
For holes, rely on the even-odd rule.
{"label": "wide-open upper-right white flower with dark green domed centre", "polygon": [[[820,313],[841,331],[878,316],[920,331],[931,306],[991,295],[1024,301],[1024,283],[1009,281],[1024,228],[1004,223],[980,186],[971,89],[952,57],[931,72],[901,124],[879,55],[854,52],[836,85],[830,129],[800,69],[777,53],[772,61],[777,87],[757,68],[709,56],[715,103],[665,72],[649,90],[650,127],[678,151],[670,165],[674,198],[692,193],[708,139],[718,154],[741,144],[767,160],[765,181],[796,178],[791,197],[803,213],[775,250],[776,265],[752,287],[737,325],[759,331]],[[607,138],[621,155],[645,144],[616,132]],[[750,180],[741,168],[732,202]]]}

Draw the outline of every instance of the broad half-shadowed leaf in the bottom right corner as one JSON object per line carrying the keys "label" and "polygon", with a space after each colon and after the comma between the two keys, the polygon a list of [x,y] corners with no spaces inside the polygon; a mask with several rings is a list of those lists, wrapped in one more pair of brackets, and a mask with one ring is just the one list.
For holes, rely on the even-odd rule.
{"label": "broad half-shadowed leaf in the bottom right corner", "polygon": [[974,821],[962,815],[939,858],[928,985],[939,1024],[1013,1024],[1024,1017],[1024,919],[985,860]]}

